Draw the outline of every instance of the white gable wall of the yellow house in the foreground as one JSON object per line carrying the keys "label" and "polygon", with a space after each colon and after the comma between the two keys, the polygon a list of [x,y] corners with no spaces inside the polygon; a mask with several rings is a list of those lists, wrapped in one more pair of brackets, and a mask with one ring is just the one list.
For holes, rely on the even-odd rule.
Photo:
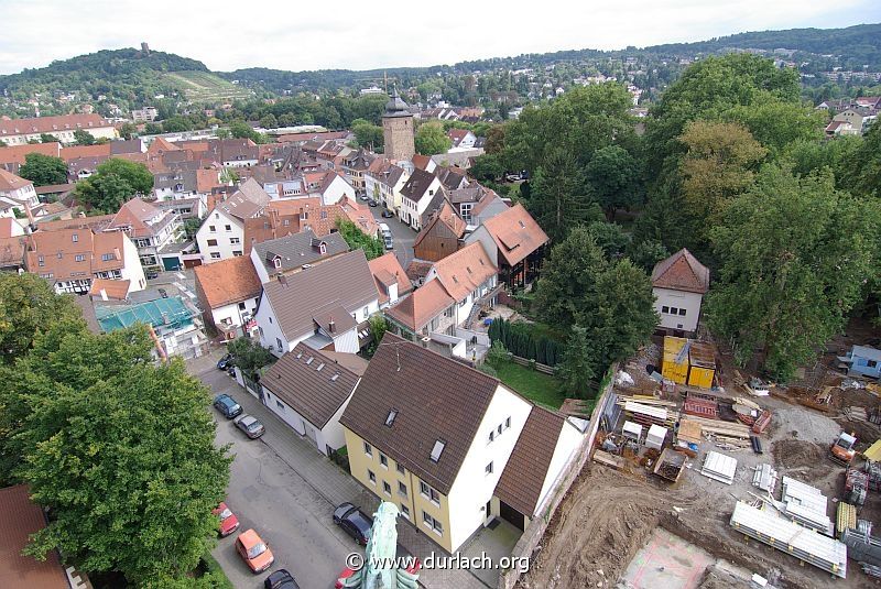
{"label": "white gable wall of the yellow house in the foreground", "polygon": [[[449,491],[449,537],[454,550],[487,521],[488,514],[483,508],[492,499],[530,411],[532,405],[525,400],[501,384],[496,389]],[[499,424],[504,427],[508,417],[511,417],[511,427],[503,429],[501,435],[497,432],[494,439],[489,441],[489,433],[496,430]],[[487,475],[485,469],[490,461],[492,473]]]}

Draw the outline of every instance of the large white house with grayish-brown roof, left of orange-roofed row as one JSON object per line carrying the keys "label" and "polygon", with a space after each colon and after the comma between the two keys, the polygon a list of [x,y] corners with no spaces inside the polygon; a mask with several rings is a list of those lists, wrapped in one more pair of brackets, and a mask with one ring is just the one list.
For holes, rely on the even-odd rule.
{"label": "large white house with grayish-brown roof, left of orange-roofed row", "polygon": [[368,342],[379,292],[363,250],[337,255],[263,285],[257,307],[260,343],[281,357],[301,341],[355,353]]}

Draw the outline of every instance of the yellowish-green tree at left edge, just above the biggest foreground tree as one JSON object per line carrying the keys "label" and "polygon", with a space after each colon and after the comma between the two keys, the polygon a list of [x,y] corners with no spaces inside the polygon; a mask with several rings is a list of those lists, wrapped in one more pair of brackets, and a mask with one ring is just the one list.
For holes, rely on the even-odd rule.
{"label": "yellowish-green tree at left edge, just above the biggest foreground tree", "polygon": [[24,356],[56,324],[85,325],[69,295],[56,295],[36,274],[0,272],[0,364]]}

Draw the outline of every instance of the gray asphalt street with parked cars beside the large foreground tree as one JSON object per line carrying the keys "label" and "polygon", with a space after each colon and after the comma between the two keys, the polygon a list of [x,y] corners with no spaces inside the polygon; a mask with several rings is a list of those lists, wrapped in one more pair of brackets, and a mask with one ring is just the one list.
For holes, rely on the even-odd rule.
{"label": "gray asphalt street with parked cars beside the large foreground tree", "polygon": [[[216,369],[204,372],[200,379],[215,394],[227,392],[233,399],[248,394]],[[231,444],[235,455],[227,505],[239,517],[239,532],[253,527],[275,556],[269,571],[252,574],[236,552],[239,532],[232,533],[211,552],[229,580],[237,589],[258,588],[270,571],[286,568],[303,589],[333,587],[346,555],[357,548],[334,525],[327,500],[265,444],[249,440],[231,421],[216,411],[214,415],[218,423],[217,444]]]}

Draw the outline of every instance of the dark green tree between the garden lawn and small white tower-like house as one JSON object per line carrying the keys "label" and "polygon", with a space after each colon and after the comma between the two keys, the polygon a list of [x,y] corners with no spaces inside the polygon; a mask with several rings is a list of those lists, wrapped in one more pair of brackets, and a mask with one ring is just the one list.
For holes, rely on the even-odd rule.
{"label": "dark green tree between the garden lawn and small white tower-like house", "polygon": [[591,378],[634,353],[657,325],[648,274],[628,259],[607,260],[586,227],[551,250],[536,291],[543,320],[564,331],[573,325],[587,330]]}

